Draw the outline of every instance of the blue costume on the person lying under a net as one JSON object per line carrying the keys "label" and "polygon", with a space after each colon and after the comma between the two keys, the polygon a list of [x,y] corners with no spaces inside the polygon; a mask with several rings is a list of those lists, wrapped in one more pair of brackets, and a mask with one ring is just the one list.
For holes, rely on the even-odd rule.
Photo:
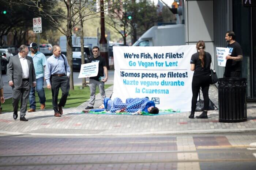
{"label": "blue costume on the person lying under a net", "polygon": [[124,109],[125,112],[137,112],[138,110],[148,112],[148,107],[155,107],[155,103],[151,100],[146,98],[128,98],[126,102],[123,103],[120,98],[115,98],[111,100],[109,98],[104,99],[104,106],[107,111],[112,113],[116,112],[117,110]]}

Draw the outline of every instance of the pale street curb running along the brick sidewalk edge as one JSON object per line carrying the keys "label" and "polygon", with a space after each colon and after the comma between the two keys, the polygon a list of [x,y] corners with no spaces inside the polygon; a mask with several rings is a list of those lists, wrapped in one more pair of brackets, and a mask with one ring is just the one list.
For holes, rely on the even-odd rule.
{"label": "pale street curb running along the brick sidewalk edge", "polygon": [[214,129],[214,130],[184,130],[184,131],[158,131],[141,133],[98,133],[98,134],[54,134],[54,133],[20,133],[0,130],[4,135],[32,135],[51,137],[87,137],[87,136],[135,136],[135,135],[185,135],[185,134],[226,134],[226,133],[255,133],[256,128],[247,129]]}

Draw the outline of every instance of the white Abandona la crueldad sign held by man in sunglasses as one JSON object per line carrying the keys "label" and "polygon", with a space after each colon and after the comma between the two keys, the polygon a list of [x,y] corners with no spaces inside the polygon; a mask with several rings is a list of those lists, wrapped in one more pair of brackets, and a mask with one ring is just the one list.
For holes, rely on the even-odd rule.
{"label": "white Abandona la crueldad sign held by man in sunglasses", "polygon": [[98,75],[99,61],[82,64],[78,78],[94,77]]}

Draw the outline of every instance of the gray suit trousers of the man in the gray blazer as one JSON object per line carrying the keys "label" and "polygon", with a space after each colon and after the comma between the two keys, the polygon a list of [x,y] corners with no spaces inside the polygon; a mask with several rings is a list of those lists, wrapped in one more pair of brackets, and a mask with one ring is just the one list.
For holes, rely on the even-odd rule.
{"label": "gray suit trousers of the man in the gray blazer", "polygon": [[27,100],[29,99],[30,85],[29,79],[22,79],[20,87],[12,88],[12,106],[14,113],[18,113],[20,100],[20,117],[24,117],[27,111]]}

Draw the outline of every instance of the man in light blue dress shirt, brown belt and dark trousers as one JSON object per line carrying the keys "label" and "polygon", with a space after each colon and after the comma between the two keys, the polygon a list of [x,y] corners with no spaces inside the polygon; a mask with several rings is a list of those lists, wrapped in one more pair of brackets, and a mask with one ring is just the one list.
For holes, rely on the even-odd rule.
{"label": "man in light blue dress shirt, brown belt and dark trousers", "polygon": [[[53,55],[46,60],[45,80],[47,88],[52,88],[52,105],[54,116],[60,117],[63,114],[62,107],[65,106],[69,91],[70,68],[65,55],[61,54],[60,46],[53,46]],[[58,104],[59,89],[62,96]]]}

